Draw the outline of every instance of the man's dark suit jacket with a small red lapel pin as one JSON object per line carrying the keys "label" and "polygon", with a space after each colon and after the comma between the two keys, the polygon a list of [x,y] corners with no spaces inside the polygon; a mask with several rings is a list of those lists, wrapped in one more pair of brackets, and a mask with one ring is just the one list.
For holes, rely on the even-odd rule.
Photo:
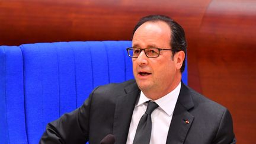
{"label": "man's dark suit jacket with a small red lapel pin", "polygon": [[[49,123],[40,143],[99,144],[113,134],[124,144],[139,95],[134,80],[95,88],[81,107]],[[182,83],[167,143],[235,143],[231,114]]]}

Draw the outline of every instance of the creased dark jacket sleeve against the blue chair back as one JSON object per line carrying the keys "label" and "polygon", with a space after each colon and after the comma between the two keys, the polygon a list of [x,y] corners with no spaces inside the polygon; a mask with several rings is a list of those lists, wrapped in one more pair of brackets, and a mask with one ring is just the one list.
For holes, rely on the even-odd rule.
{"label": "creased dark jacket sleeve against the blue chair back", "polygon": [[89,110],[93,92],[81,107],[47,124],[39,143],[86,143],[89,135]]}

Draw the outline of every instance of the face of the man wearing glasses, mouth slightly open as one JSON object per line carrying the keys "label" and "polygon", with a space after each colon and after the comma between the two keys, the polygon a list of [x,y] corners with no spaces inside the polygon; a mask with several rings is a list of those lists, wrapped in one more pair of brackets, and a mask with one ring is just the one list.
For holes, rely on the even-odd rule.
{"label": "face of the man wearing glasses, mouth slightly open", "polygon": [[[149,21],[137,28],[132,45],[142,49],[146,47],[171,49],[170,40],[171,30],[168,24],[162,21]],[[177,60],[175,56],[172,59],[170,50],[162,50],[159,57],[155,58],[147,57],[142,51],[139,57],[132,58],[133,75],[140,90],[147,97],[148,95],[164,96],[171,92],[181,78],[180,66],[178,66],[180,63],[177,65]]]}

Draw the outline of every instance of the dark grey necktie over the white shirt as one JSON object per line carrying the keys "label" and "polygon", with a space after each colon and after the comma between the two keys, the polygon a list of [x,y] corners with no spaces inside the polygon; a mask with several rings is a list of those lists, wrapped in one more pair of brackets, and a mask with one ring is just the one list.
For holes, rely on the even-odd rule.
{"label": "dark grey necktie over the white shirt", "polygon": [[158,107],[158,104],[153,101],[147,101],[146,103],[148,103],[148,107],[145,114],[143,114],[142,118],[139,121],[133,144],[149,144],[151,139],[151,113],[153,110],[155,110],[155,108]]}

